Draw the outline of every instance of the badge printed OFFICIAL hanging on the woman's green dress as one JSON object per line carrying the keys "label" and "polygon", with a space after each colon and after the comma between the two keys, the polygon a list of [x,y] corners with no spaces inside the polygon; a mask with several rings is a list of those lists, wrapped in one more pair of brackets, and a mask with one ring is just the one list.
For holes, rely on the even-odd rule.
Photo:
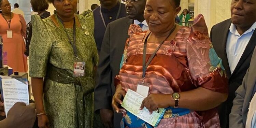
{"label": "badge printed OFFICIAL hanging on the woman's green dress", "polygon": [[75,61],[74,62],[74,77],[84,77],[85,74],[85,62]]}

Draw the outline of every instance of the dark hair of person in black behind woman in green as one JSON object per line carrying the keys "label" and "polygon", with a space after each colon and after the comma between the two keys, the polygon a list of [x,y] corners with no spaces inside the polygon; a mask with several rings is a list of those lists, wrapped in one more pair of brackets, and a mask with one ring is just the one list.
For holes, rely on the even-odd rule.
{"label": "dark hair of person in black behind woman in green", "polygon": [[45,0],[30,0],[34,11],[44,11],[49,8],[49,4]]}

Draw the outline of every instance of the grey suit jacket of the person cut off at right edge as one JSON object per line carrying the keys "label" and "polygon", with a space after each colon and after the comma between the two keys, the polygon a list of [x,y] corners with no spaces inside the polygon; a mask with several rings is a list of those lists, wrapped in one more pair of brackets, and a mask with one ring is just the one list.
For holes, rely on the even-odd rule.
{"label": "grey suit jacket of the person cut off at right edge", "polygon": [[229,115],[230,128],[245,128],[250,101],[255,93],[256,87],[256,48],[254,49],[250,68],[244,76],[243,84],[236,91],[236,98]]}

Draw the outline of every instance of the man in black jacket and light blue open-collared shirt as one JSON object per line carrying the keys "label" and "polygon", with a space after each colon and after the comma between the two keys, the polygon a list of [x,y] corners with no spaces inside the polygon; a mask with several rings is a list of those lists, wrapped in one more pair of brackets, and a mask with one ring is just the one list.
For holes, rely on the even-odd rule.
{"label": "man in black jacket and light blue open-collared shirt", "polygon": [[218,56],[222,58],[229,79],[229,96],[219,106],[222,128],[229,127],[229,113],[235,91],[242,84],[256,45],[256,0],[233,0],[231,19],[212,27],[210,38]]}

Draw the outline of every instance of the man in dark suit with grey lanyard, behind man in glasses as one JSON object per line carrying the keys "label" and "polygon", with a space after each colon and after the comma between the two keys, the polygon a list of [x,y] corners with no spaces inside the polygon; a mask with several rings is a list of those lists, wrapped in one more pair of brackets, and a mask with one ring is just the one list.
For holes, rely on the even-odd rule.
{"label": "man in dark suit with grey lanyard, behind man in glasses", "polygon": [[125,4],[118,0],[99,0],[100,6],[93,10],[94,15],[94,39],[97,45],[98,53],[106,30],[106,26],[116,19],[127,16]]}

